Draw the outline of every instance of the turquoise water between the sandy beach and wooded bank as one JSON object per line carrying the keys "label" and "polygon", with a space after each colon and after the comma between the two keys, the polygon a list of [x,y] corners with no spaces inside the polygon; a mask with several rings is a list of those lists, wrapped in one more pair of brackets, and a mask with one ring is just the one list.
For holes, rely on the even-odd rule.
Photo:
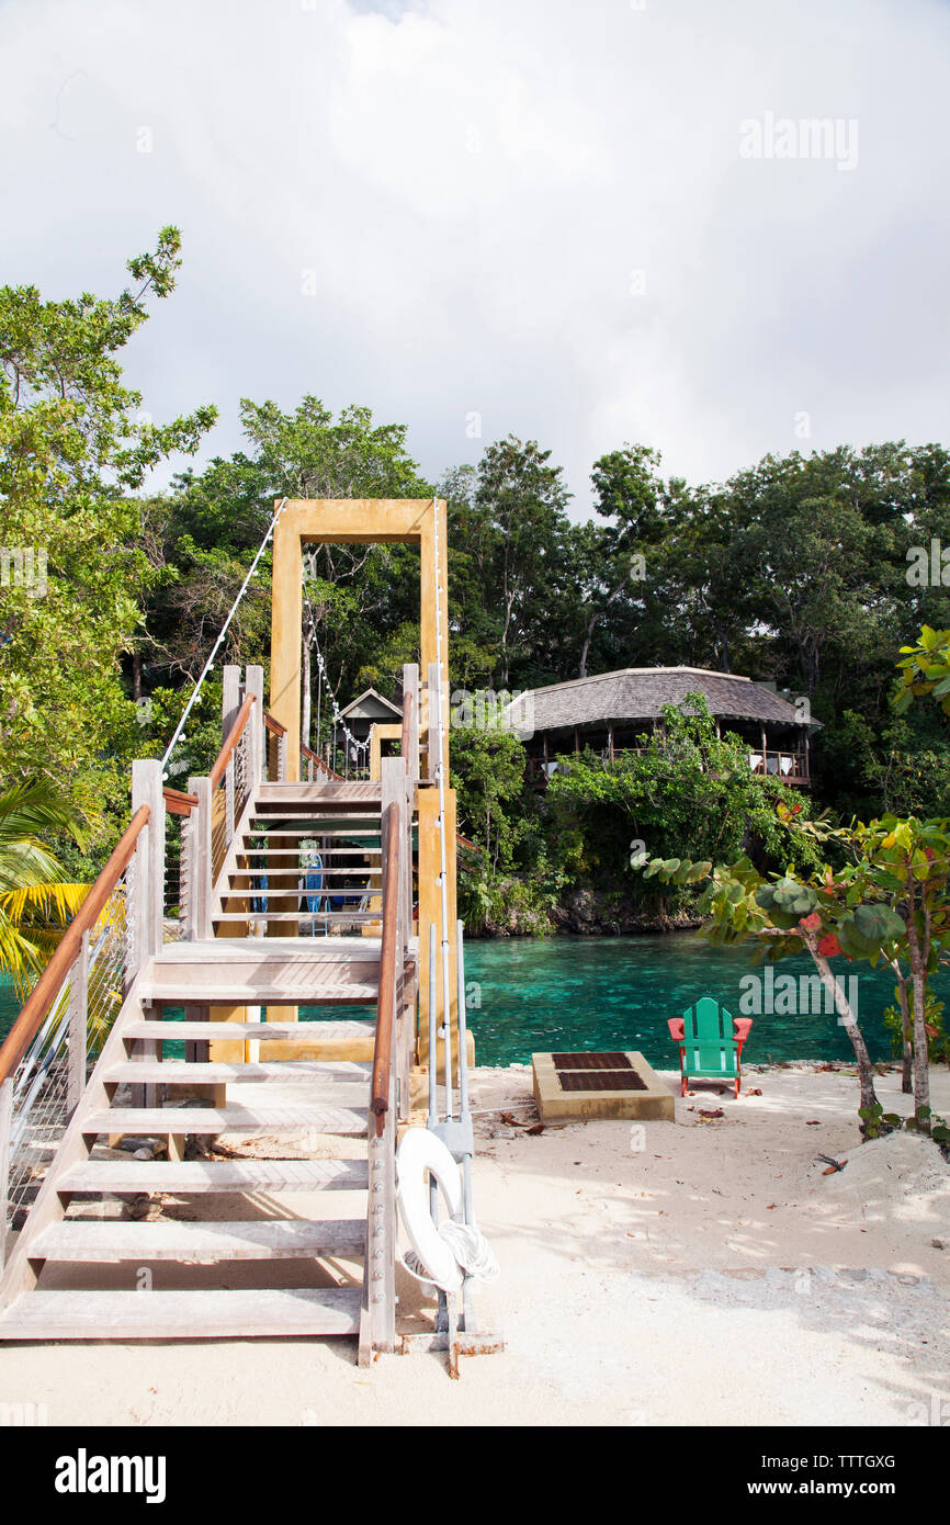
{"label": "turquoise water between the sandy beach and wooded bank", "polygon": [[[891,1042],[881,1013],[892,1000],[894,979],[868,965],[834,961],[840,978],[857,981],[862,1029],[872,1058],[887,1058]],[[740,981],[762,976],[744,949],[711,949],[689,933],[637,938],[511,938],[468,942],[465,979],[468,1020],[480,1064],[529,1063],[550,1049],[642,1049],[651,1064],[676,1068],[666,1017],[679,1016],[698,996],[717,996],[740,1016]],[[808,956],[776,965],[784,974],[813,974]],[[950,999],[950,976],[933,981]],[[775,1002],[781,1005],[781,1002]],[[801,1005],[801,1002],[798,1002]],[[0,985],[0,1037],[18,1003]],[[302,1008],[303,1020],[358,1017],[360,1008]],[[744,1049],[749,1063],[791,1058],[851,1058],[846,1032],[834,1014],[819,1011],[753,1017]]]}

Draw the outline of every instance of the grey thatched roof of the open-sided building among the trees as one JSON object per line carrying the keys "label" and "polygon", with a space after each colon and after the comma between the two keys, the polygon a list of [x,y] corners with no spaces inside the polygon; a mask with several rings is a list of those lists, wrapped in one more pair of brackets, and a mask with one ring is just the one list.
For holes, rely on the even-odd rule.
{"label": "grey thatched roof of the open-sided building among the trees", "polygon": [[[765,724],[801,726],[788,700],[749,677],[711,673],[708,668],[621,668],[596,677],[573,679],[535,688],[511,706],[531,715],[534,730],[566,726],[615,724],[657,720],[663,705],[682,705],[686,694],[700,692],[721,720],[756,720]],[[813,724],[817,724],[816,721]]]}

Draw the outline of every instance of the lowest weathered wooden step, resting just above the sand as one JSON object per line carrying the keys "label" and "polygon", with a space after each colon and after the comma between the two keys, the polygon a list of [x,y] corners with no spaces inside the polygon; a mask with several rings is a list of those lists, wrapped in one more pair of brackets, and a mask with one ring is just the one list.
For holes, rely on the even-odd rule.
{"label": "lowest weathered wooden step, resting just above the sand", "polygon": [[357,1334],[360,1301],[358,1287],[30,1292],[0,1316],[0,1340]]}

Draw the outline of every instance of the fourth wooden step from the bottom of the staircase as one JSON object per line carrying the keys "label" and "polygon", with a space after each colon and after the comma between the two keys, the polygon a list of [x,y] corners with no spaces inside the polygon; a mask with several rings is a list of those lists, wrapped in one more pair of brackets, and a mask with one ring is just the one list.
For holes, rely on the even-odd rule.
{"label": "fourth wooden step from the bottom of the staircase", "polygon": [[87,1136],[134,1133],[366,1133],[366,1107],[104,1107],[82,1119]]}

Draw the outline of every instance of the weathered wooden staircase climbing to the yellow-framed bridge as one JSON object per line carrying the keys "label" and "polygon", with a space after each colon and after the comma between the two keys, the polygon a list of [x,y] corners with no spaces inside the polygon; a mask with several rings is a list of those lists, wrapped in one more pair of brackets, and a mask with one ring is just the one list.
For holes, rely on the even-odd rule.
{"label": "weathered wooden staircase climbing to the yellow-framed bridge", "polygon": [[[255,755],[252,747],[250,778],[259,779]],[[154,886],[162,784],[157,764],[137,767],[146,770],[140,795],[151,790]],[[395,1340],[395,1133],[409,1106],[416,962],[406,764],[387,759],[383,784],[252,782],[227,805],[233,830],[217,872],[207,851],[215,790],[192,782],[192,897],[204,895],[204,906],[197,913],[192,901],[189,927],[212,935],[152,941],[151,950],[143,935],[145,953],[0,1281],[0,1340],[351,1334],[367,1362]],[[297,935],[307,920],[300,839],[320,842],[335,869],[329,883],[346,886],[329,889],[334,898],[346,889],[363,898],[366,884],[351,881],[372,854],[374,912],[328,907],[320,926],[375,921],[381,938]],[[136,851],[146,868],[142,833]],[[137,892],[142,924],[154,929],[162,906],[156,915],[142,883]],[[253,935],[255,923],[268,935]],[[375,1022],[256,1020],[255,1008],[345,1002],[372,1003]],[[185,1020],[169,1020],[181,1006]],[[213,1006],[252,1010],[246,1020],[215,1022]],[[328,1048],[360,1039],[372,1060],[256,1057],[261,1040],[268,1055],[271,1045],[293,1055],[294,1040],[311,1035]],[[171,1043],[185,1043],[185,1061],[169,1058]],[[224,1045],[230,1057],[212,1057]],[[108,1147],[120,1138],[165,1141],[168,1157]],[[343,1194],[342,1214],[326,1209],[325,1193]],[[116,1202],[130,1197],[151,1197],[149,1211],[162,1215],[114,1218]],[[99,1218],[85,1215],[90,1199],[102,1205]]]}

